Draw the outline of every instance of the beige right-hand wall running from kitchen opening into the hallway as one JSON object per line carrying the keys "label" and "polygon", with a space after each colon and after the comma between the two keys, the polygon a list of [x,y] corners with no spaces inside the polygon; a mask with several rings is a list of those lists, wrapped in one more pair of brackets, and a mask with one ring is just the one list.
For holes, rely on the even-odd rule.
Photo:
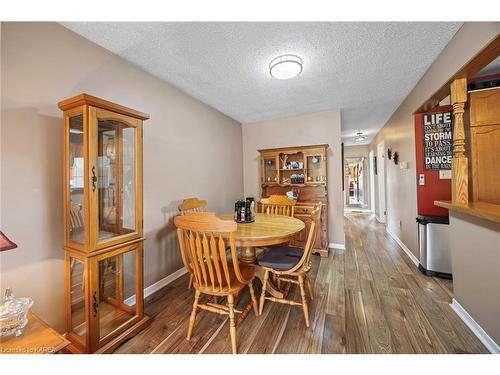
{"label": "beige right-hand wall running from kitchen opening into the hallway", "polygon": [[[391,148],[393,153],[399,153],[400,161],[408,161],[408,169],[400,169],[392,160],[386,160],[387,229],[416,256],[417,184],[413,112],[499,31],[499,22],[466,22],[370,144],[376,154],[377,144],[385,141],[386,150]],[[380,162],[377,160],[377,164]]]}

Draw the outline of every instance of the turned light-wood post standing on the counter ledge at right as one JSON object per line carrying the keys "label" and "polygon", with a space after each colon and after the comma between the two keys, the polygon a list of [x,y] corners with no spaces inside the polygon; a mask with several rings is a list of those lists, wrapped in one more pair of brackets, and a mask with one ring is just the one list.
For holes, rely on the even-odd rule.
{"label": "turned light-wood post standing on the counter ledge at right", "polygon": [[467,206],[469,204],[469,181],[464,129],[467,79],[460,78],[454,80],[450,88],[454,117],[451,199],[453,204]]}

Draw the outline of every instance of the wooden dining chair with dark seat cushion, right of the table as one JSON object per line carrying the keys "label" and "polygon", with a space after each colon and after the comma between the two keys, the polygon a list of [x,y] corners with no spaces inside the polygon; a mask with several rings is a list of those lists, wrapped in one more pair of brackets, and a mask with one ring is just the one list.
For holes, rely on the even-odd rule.
{"label": "wooden dining chair with dark seat cushion, right of the table", "polygon": [[[311,226],[307,237],[304,250],[290,246],[274,246],[267,253],[264,253],[258,259],[259,265],[264,270],[264,281],[262,284],[262,294],[260,296],[259,314],[262,314],[264,302],[266,300],[288,305],[302,306],[304,310],[304,319],[306,326],[309,327],[309,309],[304,289],[307,284],[309,295],[312,299],[313,291],[308,272],[311,269],[311,254],[314,248],[314,242],[320,226],[321,203],[317,204],[311,213]],[[286,298],[275,298],[266,296],[266,288],[269,282],[269,274],[274,279],[283,283],[296,284],[300,288],[301,302],[288,300]]]}

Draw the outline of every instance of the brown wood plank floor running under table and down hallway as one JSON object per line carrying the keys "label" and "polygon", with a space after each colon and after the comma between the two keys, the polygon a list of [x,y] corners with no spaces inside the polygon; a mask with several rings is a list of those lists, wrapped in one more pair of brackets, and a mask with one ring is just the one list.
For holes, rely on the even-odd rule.
{"label": "brown wood plank floor running under table and down hallway", "polygon": [[[313,257],[311,327],[300,308],[267,303],[237,327],[239,353],[487,353],[449,307],[449,283],[422,275],[372,215],[346,214],[345,232],[345,251]],[[115,352],[230,353],[224,316],[201,311],[186,340],[187,284],[185,275],[148,298],[153,323]]]}

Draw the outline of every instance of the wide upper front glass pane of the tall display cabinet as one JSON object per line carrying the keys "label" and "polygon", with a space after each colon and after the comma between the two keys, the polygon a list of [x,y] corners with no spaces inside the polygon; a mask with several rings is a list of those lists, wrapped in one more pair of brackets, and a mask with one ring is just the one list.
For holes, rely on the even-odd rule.
{"label": "wide upper front glass pane of the tall display cabinet", "polygon": [[[97,243],[137,233],[137,121],[104,110],[96,111],[92,190],[97,202]],[[94,178],[95,176],[95,178]],[[97,216],[97,217],[96,217]]]}

